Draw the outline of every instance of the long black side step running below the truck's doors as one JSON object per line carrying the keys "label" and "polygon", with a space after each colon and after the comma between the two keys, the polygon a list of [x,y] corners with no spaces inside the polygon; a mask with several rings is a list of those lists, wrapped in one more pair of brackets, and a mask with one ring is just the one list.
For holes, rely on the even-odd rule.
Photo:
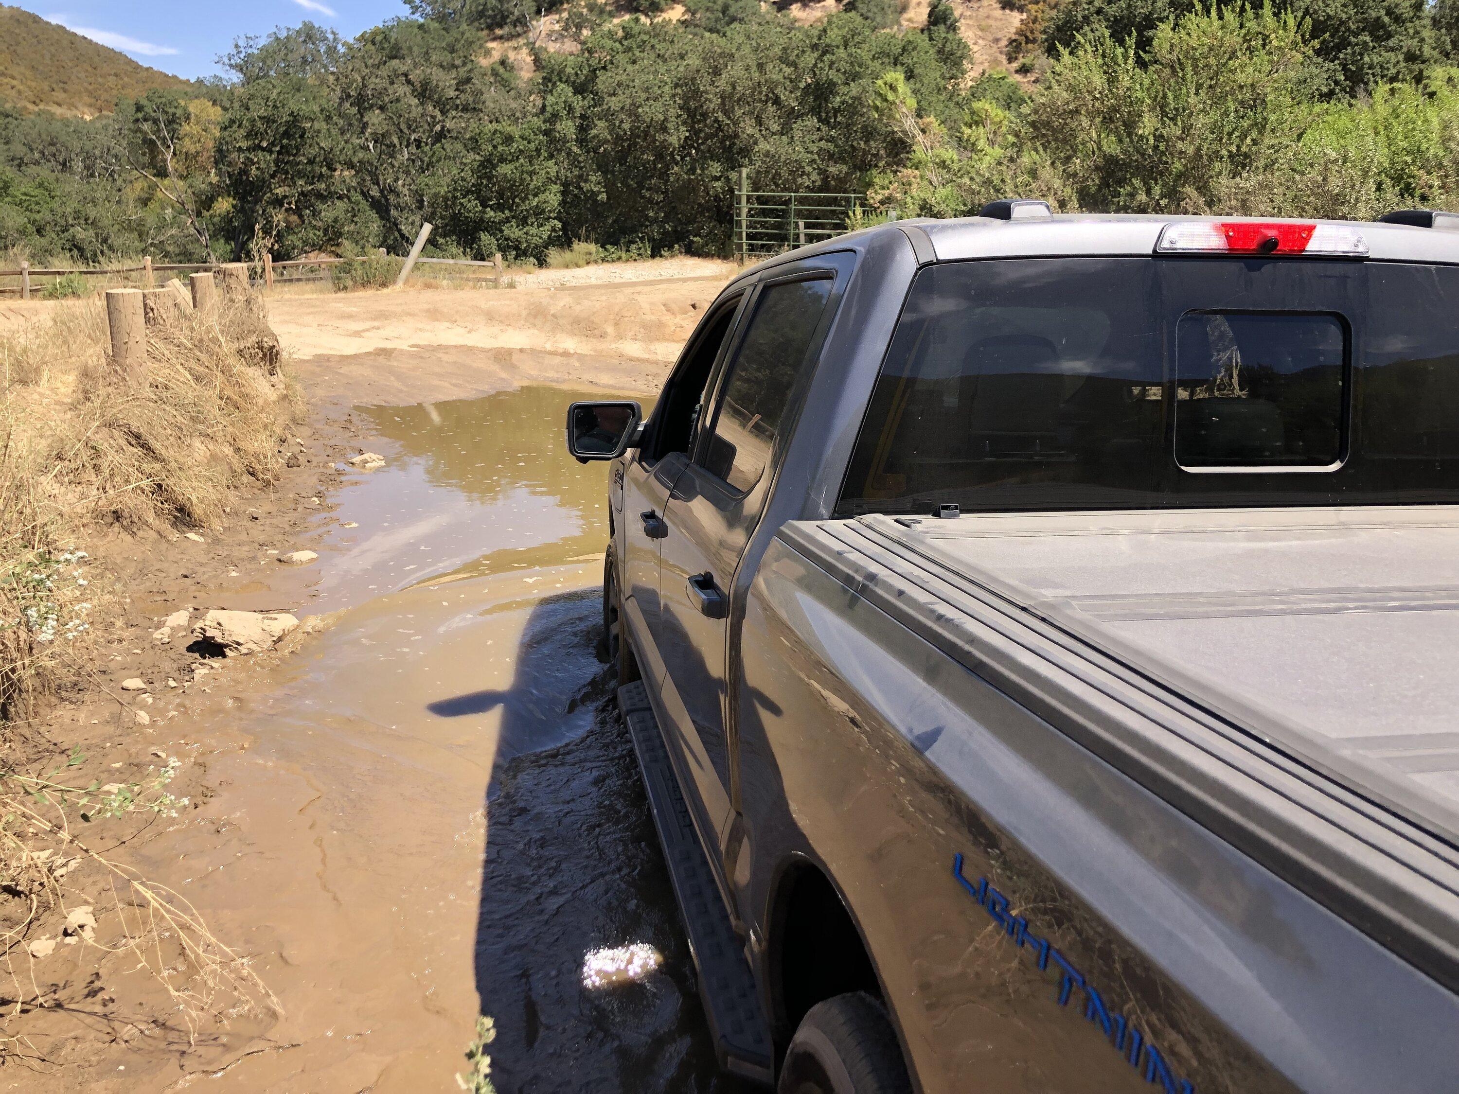
{"label": "long black side step running below the truck's doors", "polygon": [[770,1028],[760,1008],[754,976],[746,964],[740,936],[719,897],[709,862],[694,833],[689,805],[678,789],[668,748],[642,683],[619,688],[619,709],[629,723],[633,751],[643,772],[654,826],[664,845],[664,859],[674,882],[678,912],[689,935],[689,950],[699,970],[699,996],[709,1020],[719,1066],[732,1075],[775,1081]]}

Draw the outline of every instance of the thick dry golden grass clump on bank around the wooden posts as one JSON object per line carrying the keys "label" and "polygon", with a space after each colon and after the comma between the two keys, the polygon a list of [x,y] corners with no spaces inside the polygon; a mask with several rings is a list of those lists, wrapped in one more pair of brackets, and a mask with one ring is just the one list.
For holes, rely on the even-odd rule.
{"label": "thick dry golden grass clump on bank around the wooden posts", "polygon": [[251,299],[149,328],[142,378],[109,362],[99,300],[0,338],[0,721],[29,716],[85,623],[66,567],[88,529],[216,525],[277,476],[298,406]]}

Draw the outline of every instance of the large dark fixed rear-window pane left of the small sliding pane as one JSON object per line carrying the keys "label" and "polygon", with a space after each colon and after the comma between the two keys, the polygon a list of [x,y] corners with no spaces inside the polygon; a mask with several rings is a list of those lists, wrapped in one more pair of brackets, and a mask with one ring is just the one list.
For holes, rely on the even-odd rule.
{"label": "large dark fixed rear-window pane left of the small sliding pane", "polygon": [[1068,508],[1147,489],[1164,382],[1151,267],[925,270],[852,458],[851,511],[925,509],[969,490],[994,508]]}

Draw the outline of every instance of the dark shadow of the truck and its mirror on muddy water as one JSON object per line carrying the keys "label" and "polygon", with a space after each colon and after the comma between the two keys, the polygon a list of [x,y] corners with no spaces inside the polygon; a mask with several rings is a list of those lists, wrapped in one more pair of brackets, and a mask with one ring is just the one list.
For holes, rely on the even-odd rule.
{"label": "dark shadow of the truck and its mirror on muddy water", "polygon": [[[731,1091],[719,1076],[613,668],[600,594],[540,601],[506,690],[442,697],[441,718],[500,709],[486,792],[476,934],[492,1081],[527,1091]],[[658,971],[584,986],[600,948],[652,945]],[[464,1047],[464,1046],[463,1046]]]}

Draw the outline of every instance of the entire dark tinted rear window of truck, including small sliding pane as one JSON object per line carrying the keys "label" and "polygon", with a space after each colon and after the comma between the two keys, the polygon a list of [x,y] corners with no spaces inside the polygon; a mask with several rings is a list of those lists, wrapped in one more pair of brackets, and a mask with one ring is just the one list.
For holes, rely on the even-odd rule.
{"label": "entire dark tinted rear window of truck, including small sliding pane", "polygon": [[1459,503],[1456,299],[1450,267],[928,267],[837,512]]}

